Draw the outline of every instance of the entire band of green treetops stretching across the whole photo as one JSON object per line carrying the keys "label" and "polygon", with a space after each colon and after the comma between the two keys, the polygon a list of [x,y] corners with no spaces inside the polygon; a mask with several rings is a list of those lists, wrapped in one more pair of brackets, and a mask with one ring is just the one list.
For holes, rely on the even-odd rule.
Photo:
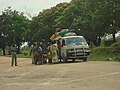
{"label": "entire band of green treetops stretching across the whole photo", "polygon": [[50,41],[57,27],[74,29],[96,46],[106,34],[112,34],[115,42],[115,34],[120,31],[119,16],[119,0],[71,0],[39,12],[32,20],[8,7],[0,15],[0,48],[12,43],[20,47],[25,41]]}

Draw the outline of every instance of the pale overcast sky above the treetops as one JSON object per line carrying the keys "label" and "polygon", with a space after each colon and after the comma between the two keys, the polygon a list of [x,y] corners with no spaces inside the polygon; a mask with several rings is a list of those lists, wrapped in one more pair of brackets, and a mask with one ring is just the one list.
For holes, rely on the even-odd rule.
{"label": "pale overcast sky above the treetops", "polygon": [[0,14],[1,11],[11,6],[12,10],[27,12],[34,16],[43,9],[48,9],[56,4],[70,1],[71,0],[0,0]]}

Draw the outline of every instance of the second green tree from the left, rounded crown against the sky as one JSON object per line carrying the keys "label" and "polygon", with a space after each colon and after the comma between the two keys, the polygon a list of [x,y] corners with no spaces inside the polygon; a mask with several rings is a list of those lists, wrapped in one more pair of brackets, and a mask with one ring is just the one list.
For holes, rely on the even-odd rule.
{"label": "second green tree from the left, rounded crown against the sky", "polygon": [[13,11],[12,15],[13,40],[18,47],[18,53],[20,53],[20,46],[25,42],[25,32],[29,28],[29,20],[23,13],[19,13],[18,11]]}

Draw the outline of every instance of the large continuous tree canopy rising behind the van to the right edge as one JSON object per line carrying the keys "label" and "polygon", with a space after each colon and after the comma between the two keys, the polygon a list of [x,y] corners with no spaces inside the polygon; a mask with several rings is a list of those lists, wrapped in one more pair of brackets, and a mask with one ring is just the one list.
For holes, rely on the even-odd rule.
{"label": "large continuous tree canopy rising behind the van to the right edge", "polygon": [[60,27],[75,29],[78,35],[83,35],[95,45],[100,45],[101,37],[106,34],[113,34],[115,41],[115,33],[120,30],[119,7],[119,0],[72,0],[70,3],[60,3],[34,17],[32,26],[37,32],[34,37],[40,40],[47,35],[48,40],[55,28]]}

